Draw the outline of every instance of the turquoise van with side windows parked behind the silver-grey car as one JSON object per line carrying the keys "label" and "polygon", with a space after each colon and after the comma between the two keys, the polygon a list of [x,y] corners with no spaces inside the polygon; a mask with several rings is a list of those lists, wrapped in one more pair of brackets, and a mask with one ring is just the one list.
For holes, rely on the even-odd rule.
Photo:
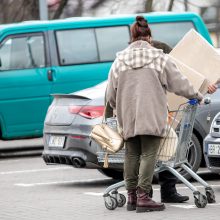
{"label": "turquoise van with side windows parked behind the silver-grey car", "polygon": [[[209,43],[194,13],[144,14],[154,40],[171,47],[191,28]],[[0,25],[2,139],[42,135],[52,93],[70,93],[107,78],[117,51],[130,41],[136,15],[71,18]]]}

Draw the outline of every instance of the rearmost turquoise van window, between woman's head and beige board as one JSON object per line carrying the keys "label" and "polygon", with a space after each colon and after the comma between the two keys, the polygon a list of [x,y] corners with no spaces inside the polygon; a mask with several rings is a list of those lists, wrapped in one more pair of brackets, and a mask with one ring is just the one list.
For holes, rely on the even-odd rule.
{"label": "rearmost turquoise van window, between woman's head and beige board", "polygon": [[170,47],[174,47],[190,29],[195,29],[192,22],[152,23],[150,28],[154,40],[167,43]]}

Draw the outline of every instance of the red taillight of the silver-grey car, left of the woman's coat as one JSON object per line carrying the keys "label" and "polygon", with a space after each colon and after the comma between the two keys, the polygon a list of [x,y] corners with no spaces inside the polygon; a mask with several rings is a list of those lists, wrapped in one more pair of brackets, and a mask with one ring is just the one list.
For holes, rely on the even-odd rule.
{"label": "red taillight of the silver-grey car, left of the woman's coat", "polygon": [[94,119],[103,115],[104,106],[69,106],[69,112],[84,118]]}

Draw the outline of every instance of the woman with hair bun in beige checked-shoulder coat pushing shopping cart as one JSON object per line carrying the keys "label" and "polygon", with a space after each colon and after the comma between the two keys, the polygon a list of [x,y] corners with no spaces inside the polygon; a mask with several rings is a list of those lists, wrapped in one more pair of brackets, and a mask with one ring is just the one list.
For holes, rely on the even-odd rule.
{"label": "woman with hair bun in beige checked-shoulder coat pushing shopping cart", "polygon": [[[124,179],[127,210],[160,211],[149,194],[156,154],[167,120],[166,91],[202,100],[162,50],[151,46],[151,30],[142,16],[131,26],[132,43],[117,53],[107,88],[125,139]],[[136,194],[137,193],[137,194]]]}

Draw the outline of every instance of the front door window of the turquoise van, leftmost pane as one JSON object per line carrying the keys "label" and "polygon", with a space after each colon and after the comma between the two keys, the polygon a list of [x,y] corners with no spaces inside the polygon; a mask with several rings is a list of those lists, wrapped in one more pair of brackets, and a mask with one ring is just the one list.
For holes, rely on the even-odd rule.
{"label": "front door window of the turquoise van, leftmost pane", "polygon": [[43,36],[10,37],[0,46],[0,70],[45,66]]}

